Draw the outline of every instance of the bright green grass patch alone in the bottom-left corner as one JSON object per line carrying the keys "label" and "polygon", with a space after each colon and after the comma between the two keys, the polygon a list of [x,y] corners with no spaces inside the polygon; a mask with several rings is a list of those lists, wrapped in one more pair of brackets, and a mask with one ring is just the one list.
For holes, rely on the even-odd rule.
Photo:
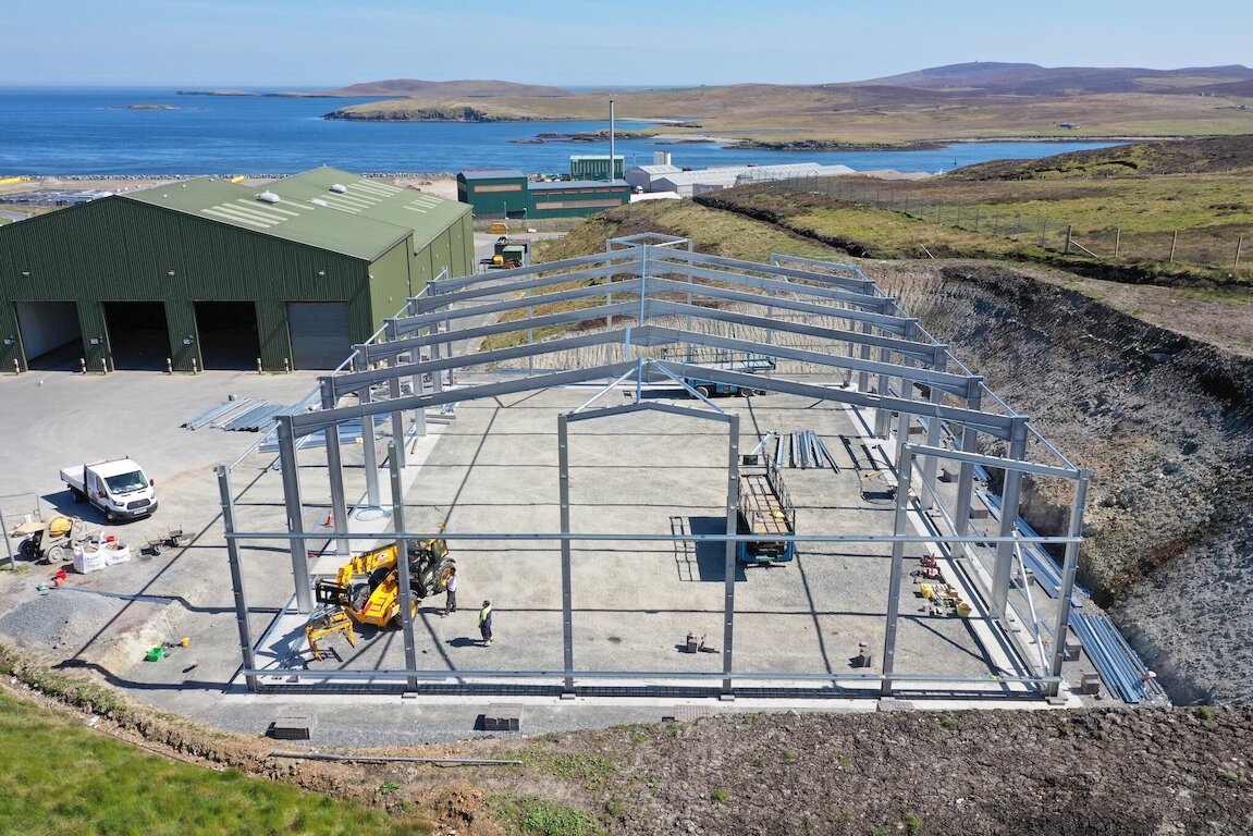
{"label": "bright green grass patch alone in the bottom-left corner", "polygon": [[23,836],[427,832],[361,805],[147,755],[4,693],[0,831]]}

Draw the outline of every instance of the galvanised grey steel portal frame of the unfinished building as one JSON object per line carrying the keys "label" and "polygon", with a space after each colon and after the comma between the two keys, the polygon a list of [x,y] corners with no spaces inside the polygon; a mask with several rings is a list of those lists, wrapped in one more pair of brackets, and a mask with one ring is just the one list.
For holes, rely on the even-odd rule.
{"label": "galvanised grey steel portal frame of the unfinished building", "polygon": [[[500,298],[507,292],[507,298]],[[535,310],[554,303],[576,303],[574,310],[536,315]],[[734,305],[736,307],[728,307]],[[744,312],[744,307],[764,308],[761,313]],[[502,315],[524,312],[521,318],[504,318]],[[783,318],[792,317],[792,318]],[[614,327],[615,318],[620,323]],[[685,328],[663,325],[662,320],[685,320]],[[579,333],[543,342],[534,341],[535,328],[604,321],[605,328],[593,333]],[[841,327],[833,327],[834,325]],[[699,331],[697,322],[738,326],[749,332],[762,332],[761,340],[720,336]],[[624,325],[623,325],[624,323]],[[528,335],[528,342],[515,347],[474,351],[456,355],[456,343],[494,335]],[[441,278],[432,282],[419,297],[411,298],[403,316],[386,321],[381,330],[383,338],[355,346],[351,367],[360,371],[337,371],[320,379],[321,410],[299,415],[279,416],[278,441],[282,465],[287,531],[241,531],[236,528],[234,499],[229,485],[229,468],[218,469],[226,539],[229,551],[232,582],[236,589],[236,608],[239,622],[239,640],[243,654],[243,674],[248,687],[261,689],[258,677],[267,671],[256,666],[254,644],[248,624],[247,594],[241,570],[239,544],[244,540],[286,540],[289,544],[293,599],[299,613],[313,609],[312,582],[307,564],[308,531],[303,523],[303,503],[297,452],[302,439],[326,434],[327,465],[333,534],[320,534],[318,539],[347,541],[353,538],[347,531],[348,519],[343,465],[340,456],[338,427],[346,421],[362,421],[362,436],[373,439],[373,420],[390,416],[393,439],[406,435],[405,415],[412,414],[411,431],[426,431],[427,411],[476,399],[497,397],[507,394],[528,392],[554,386],[609,381],[608,389],[624,382],[634,382],[635,401],[625,406],[599,409],[594,412],[584,407],[560,415],[558,419],[559,490],[561,530],[553,533],[474,534],[445,533],[450,540],[553,540],[561,548],[563,585],[563,671],[479,671],[474,678],[485,681],[554,679],[560,678],[565,692],[574,692],[575,679],[639,679],[684,681],[709,679],[708,673],[632,672],[632,671],[581,671],[575,667],[574,627],[570,578],[570,544],[575,540],[719,540],[725,544],[727,589],[724,603],[723,666],[718,677],[720,691],[733,693],[736,681],[794,681],[812,682],[833,679],[878,683],[878,693],[897,693],[893,677],[896,652],[896,627],[900,610],[900,588],[905,573],[905,546],[910,543],[935,544],[955,560],[961,553],[969,558],[975,544],[995,544],[992,579],[989,588],[980,588],[981,605],[992,624],[999,625],[1001,640],[1007,647],[1017,640],[1011,630],[1004,629],[1007,615],[1010,580],[1015,544],[1024,540],[1016,530],[1021,501],[1022,478],[1055,478],[1074,483],[1074,500],[1070,510],[1069,531],[1065,536],[1036,536],[1034,543],[1061,544],[1065,559],[1059,590],[1059,610],[1051,628],[1051,654],[1041,658],[1032,669],[1029,653],[1016,645],[1020,659],[1027,661],[1020,676],[999,677],[1000,682],[1026,683],[1039,693],[1056,696],[1061,682],[1061,663],[1069,622],[1071,594],[1075,585],[1083,515],[1086,503],[1090,471],[1070,464],[1053,445],[1034,430],[1030,420],[1015,412],[997,399],[982,382],[954,357],[947,346],[928,335],[913,317],[882,293],[873,281],[856,267],[831,264],[791,256],[772,256],[768,264],[708,256],[694,252],[692,242],[669,236],[645,234],[615,238],[606,242],[605,252],[596,256],[569,258],[531,267],[500,271],[494,274],[475,274]],[[778,342],[778,340],[816,341],[811,347]],[[841,347],[837,351],[823,346]],[[455,375],[464,370],[484,367],[515,360],[534,362],[535,357],[590,346],[618,346],[623,357],[619,362],[568,370],[539,371],[531,366],[523,374],[491,382],[456,385]],[[758,375],[728,368],[677,362],[654,356],[655,350],[670,346],[705,347],[753,355],[766,355],[776,360],[809,363],[847,374],[847,384],[857,375],[857,385],[831,386],[827,384],[788,380],[782,374]],[[817,347],[813,347],[817,346]],[[700,399],[685,380],[695,377],[733,386],[767,390],[833,401],[861,410],[873,410],[873,434],[881,439],[893,435],[891,419],[897,416],[896,437],[896,515],[891,535],[796,535],[798,543],[829,541],[880,541],[892,544],[891,582],[888,584],[887,623],[882,651],[882,671],[841,673],[829,672],[737,672],[733,657],[734,628],[734,554],[739,541],[754,540],[753,535],[736,533],[738,493],[738,439],[739,424],[734,415],[727,415],[708,400]],[[410,394],[403,394],[402,382],[411,381]],[[640,389],[645,384],[670,381],[682,385],[703,401],[703,409],[645,404]],[[386,387],[386,396],[377,399],[377,390]],[[915,396],[915,389],[925,394]],[[603,390],[603,391],[606,391]],[[346,396],[356,402],[342,405]],[[991,405],[991,409],[987,406]],[[569,460],[568,427],[571,422],[608,417],[634,411],[663,411],[694,416],[728,424],[728,490],[725,534],[693,535],[625,535],[619,533],[570,531],[569,515]],[[925,430],[925,442],[913,444],[908,439],[915,422]],[[1006,450],[1002,456],[979,452],[982,437],[992,439]],[[946,446],[946,442],[949,446]],[[1029,447],[1039,450],[1049,459],[1045,462],[1027,460]],[[392,441],[387,449],[392,483],[391,536],[403,544],[408,539],[429,536],[405,530],[403,501],[400,473],[405,466],[403,444]],[[365,445],[367,501],[378,503],[377,451],[373,444]],[[938,464],[949,462],[957,469],[956,503],[952,509],[944,506],[936,484]],[[1002,510],[999,534],[977,535],[970,529],[971,503],[976,468],[1005,471]],[[910,534],[911,515],[923,519],[925,509],[937,509],[949,524],[949,533],[935,526],[925,533]],[[356,535],[358,539],[361,535]],[[403,551],[402,551],[403,553]],[[446,671],[424,671],[417,667],[413,645],[413,624],[408,617],[407,564],[401,560],[402,627],[406,668],[398,671],[284,671],[284,676],[322,679],[368,679],[371,682],[402,681],[413,691],[422,682],[437,682],[454,674]],[[1034,615],[1034,607],[1032,607]],[[1041,644],[1041,625],[1030,619],[1035,644]],[[1041,652],[1042,657],[1042,652]],[[470,672],[457,672],[464,678]],[[951,674],[901,674],[910,682],[937,682],[962,684],[986,682],[985,677],[972,678]]]}

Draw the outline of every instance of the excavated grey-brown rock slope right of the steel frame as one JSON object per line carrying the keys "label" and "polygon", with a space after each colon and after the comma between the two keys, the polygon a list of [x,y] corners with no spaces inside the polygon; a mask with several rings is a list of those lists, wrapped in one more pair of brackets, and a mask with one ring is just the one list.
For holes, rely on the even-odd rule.
{"label": "excavated grey-brown rock slope right of the steel frame", "polygon": [[[1253,363],[1000,266],[871,272],[1094,470],[1081,582],[1172,697],[1253,699]],[[1064,533],[1069,488],[1025,490]]]}

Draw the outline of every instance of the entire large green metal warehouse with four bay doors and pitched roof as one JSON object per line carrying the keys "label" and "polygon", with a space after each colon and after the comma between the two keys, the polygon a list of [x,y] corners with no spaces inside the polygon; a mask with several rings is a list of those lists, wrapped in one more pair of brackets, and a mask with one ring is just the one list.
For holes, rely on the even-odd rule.
{"label": "entire large green metal warehouse with four bay doors and pitched roof", "polygon": [[317,168],[200,178],[0,227],[0,367],[332,368],[447,269],[471,208]]}

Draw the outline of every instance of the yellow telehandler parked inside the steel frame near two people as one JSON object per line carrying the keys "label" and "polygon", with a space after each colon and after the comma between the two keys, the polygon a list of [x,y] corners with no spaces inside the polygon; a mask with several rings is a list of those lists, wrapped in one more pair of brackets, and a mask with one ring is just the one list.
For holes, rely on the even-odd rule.
{"label": "yellow telehandler parked inside the steel frame near two people", "polygon": [[[444,525],[440,524],[440,530]],[[320,578],[313,587],[313,597],[321,607],[304,628],[309,649],[318,659],[322,653],[317,639],[343,632],[348,643],[356,645],[352,625],[400,627],[400,565],[395,543],[380,546],[352,558],[340,567],[335,579]],[[449,556],[449,544],[442,536],[408,543],[408,587],[412,592],[413,610],[424,598],[447,590],[449,575],[456,562]]]}

